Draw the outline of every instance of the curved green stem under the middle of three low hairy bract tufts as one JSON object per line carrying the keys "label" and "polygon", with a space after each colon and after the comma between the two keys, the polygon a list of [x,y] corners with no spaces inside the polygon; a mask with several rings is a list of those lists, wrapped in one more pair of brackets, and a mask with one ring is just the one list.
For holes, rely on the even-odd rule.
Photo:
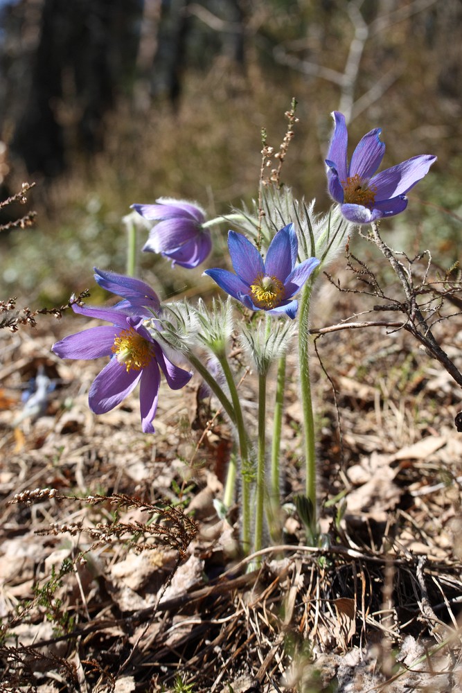
{"label": "curved green stem under the middle of three low hairy bract tufts", "polygon": [[[224,377],[226,378],[226,383],[228,383],[229,393],[231,394],[231,400],[233,401],[233,408],[236,412],[236,428],[238,430],[239,448],[240,448],[240,464],[241,464],[241,475],[242,475],[242,548],[247,554],[250,550],[250,483],[249,470],[251,468],[251,459],[249,459],[249,446],[247,445],[247,432],[244,425],[244,417],[242,416],[242,407],[240,406],[240,399],[238,394],[238,389],[236,388],[236,383],[234,382],[233,374],[231,368],[229,367],[228,360],[226,356],[219,357],[220,365],[224,372]],[[230,473],[230,472],[229,472]],[[231,470],[231,474],[233,471]],[[236,479],[236,475],[235,475]],[[231,483],[231,482],[229,482]],[[226,491],[228,495],[231,491],[228,489],[228,482],[226,482]],[[226,504],[225,504],[226,505]]]}

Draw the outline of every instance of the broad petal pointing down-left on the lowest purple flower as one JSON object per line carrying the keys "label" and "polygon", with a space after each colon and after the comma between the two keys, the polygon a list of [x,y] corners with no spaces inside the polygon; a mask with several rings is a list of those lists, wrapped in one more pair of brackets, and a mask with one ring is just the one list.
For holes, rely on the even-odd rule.
{"label": "broad petal pointing down-left on the lowest purple flower", "polygon": [[112,358],[96,376],[90,387],[88,401],[95,414],[105,414],[121,403],[132,392],[141,377],[141,371],[128,371],[125,365]]}

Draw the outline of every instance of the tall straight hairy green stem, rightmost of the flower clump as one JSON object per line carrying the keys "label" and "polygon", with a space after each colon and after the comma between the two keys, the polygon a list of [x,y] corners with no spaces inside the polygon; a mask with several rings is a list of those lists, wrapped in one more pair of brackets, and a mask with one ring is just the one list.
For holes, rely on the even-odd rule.
{"label": "tall straight hairy green stem, rightmost of the flower clump", "polygon": [[[314,277],[313,277],[314,279]],[[299,303],[299,377],[305,446],[306,497],[312,506],[312,530],[316,527],[316,454],[310,383],[310,298],[312,281],[305,284]]]}

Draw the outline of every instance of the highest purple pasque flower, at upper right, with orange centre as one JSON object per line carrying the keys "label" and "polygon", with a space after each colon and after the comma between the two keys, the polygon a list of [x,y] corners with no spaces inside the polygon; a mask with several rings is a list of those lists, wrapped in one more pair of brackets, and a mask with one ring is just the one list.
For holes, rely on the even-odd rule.
{"label": "highest purple pasque flower, at upper right, with orange centre", "polygon": [[341,213],[355,224],[370,224],[394,216],[407,207],[406,193],[427,175],[436,157],[424,154],[402,161],[375,174],[382,163],[385,145],[375,128],[359,141],[348,164],[348,132],[345,116],[332,113],[335,129],[326,159],[329,193],[339,202]]}

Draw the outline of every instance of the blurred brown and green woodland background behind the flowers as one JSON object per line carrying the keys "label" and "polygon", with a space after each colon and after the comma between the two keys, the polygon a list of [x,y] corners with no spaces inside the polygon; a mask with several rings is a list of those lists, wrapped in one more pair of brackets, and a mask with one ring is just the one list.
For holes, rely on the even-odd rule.
{"label": "blurred brown and green woodland background behind the flowers", "polygon": [[[124,270],[134,202],[188,198],[210,215],[249,204],[260,130],[277,148],[292,96],[284,182],[326,210],[330,112],[346,114],[352,146],[380,125],[383,166],[438,156],[387,222],[391,244],[459,257],[461,0],[1,0],[0,27],[1,195],[34,181],[38,212],[33,229],[0,236],[1,298],[98,298],[92,267]],[[140,252],[162,297],[208,286],[167,264]]]}

